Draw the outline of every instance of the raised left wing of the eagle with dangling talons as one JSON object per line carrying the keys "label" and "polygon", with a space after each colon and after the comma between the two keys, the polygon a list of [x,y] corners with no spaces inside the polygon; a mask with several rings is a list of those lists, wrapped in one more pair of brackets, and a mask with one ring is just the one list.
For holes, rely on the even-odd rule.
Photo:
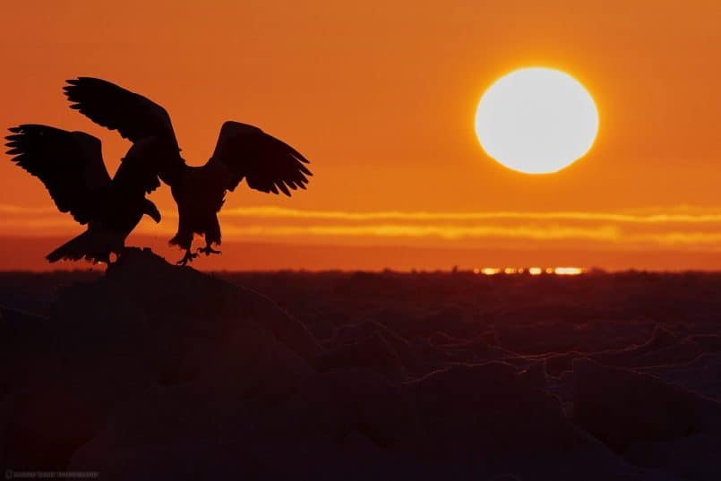
{"label": "raised left wing of the eagle with dangling talons", "polygon": [[102,79],[78,77],[65,82],[63,90],[70,107],[96,124],[118,131],[133,143],[156,137],[177,151],[176,133],[165,108]]}

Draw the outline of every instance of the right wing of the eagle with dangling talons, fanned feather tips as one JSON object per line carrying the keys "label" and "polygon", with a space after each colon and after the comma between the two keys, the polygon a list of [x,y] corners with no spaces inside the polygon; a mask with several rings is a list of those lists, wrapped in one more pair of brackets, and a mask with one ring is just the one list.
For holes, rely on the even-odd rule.
{"label": "right wing of the eagle with dangling talons, fanned feather tips", "polygon": [[218,143],[210,162],[222,162],[231,173],[228,190],[235,190],[245,177],[248,186],[264,192],[290,196],[292,190],[305,189],[306,176],[313,176],[304,164],[303,155],[264,133],[258,127],[226,122],[220,129]]}

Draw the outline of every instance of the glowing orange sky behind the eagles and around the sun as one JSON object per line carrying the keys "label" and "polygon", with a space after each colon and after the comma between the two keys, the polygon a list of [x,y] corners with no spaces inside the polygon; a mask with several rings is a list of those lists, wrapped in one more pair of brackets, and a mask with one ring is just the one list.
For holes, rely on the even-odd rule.
{"label": "glowing orange sky behind the eagles and around the sun", "polygon": [[[252,265],[228,255],[227,269],[329,265],[284,261],[277,245],[381,246],[372,267],[394,267],[394,249],[410,245],[445,249],[448,267],[461,262],[452,249],[478,249],[483,264],[512,262],[494,249],[517,249],[538,264],[568,251],[588,266],[721,269],[719,22],[710,0],[17,2],[0,17],[0,125],[92,133],[114,171],[128,144],[61,93],[64,79],[92,75],[166,107],[192,164],[208,158],[226,119],[291,143],[313,162],[309,190],[230,194],[225,238],[275,247]],[[554,175],[499,166],[474,133],[485,88],[529,65],[571,73],[601,116],[593,150]],[[164,222],[144,220],[139,235],[169,238],[167,187],[152,199]],[[0,237],[81,230],[4,156]],[[442,263],[424,255],[411,263]],[[366,265],[347,257],[329,259]],[[43,262],[0,253],[0,269]]]}

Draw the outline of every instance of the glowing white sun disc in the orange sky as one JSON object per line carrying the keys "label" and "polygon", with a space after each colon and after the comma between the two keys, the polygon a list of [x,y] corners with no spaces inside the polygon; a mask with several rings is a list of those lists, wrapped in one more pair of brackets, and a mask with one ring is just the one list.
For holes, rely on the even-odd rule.
{"label": "glowing white sun disc in the orange sky", "polygon": [[476,110],[476,135],[491,158],[526,174],[570,166],[593,146],[596,103],[568,73],[524,68],[485,91]]}

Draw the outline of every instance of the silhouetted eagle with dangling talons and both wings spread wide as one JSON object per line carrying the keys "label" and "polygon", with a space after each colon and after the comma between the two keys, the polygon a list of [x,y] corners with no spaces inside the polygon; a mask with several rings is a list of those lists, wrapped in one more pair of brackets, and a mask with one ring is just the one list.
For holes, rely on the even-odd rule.
{"label": "silhouetted eagle with dangling talons and both wings spread wide", "polygon": [[[185,163],[180,155],[173,125],[165,108],[133,91],[93,77],[66,81],[65,96],[71,108],[96,124],[116,130],[133,146],[146,143],[149,162],[159,167],[158,176],[167,185],[178,210],[177,233],[171,245],[185,250],[177,263],[192,262],[198,253],[220,253],[218,212],[227,191],[233,192],[245,179],[248,187],[263,193],[305,189],[310,170],[308,159],[287,143],[254,125],[227,121],[218,142],[202,167]],[[204,237],[205,246],[193,252],[193,237]]]}

